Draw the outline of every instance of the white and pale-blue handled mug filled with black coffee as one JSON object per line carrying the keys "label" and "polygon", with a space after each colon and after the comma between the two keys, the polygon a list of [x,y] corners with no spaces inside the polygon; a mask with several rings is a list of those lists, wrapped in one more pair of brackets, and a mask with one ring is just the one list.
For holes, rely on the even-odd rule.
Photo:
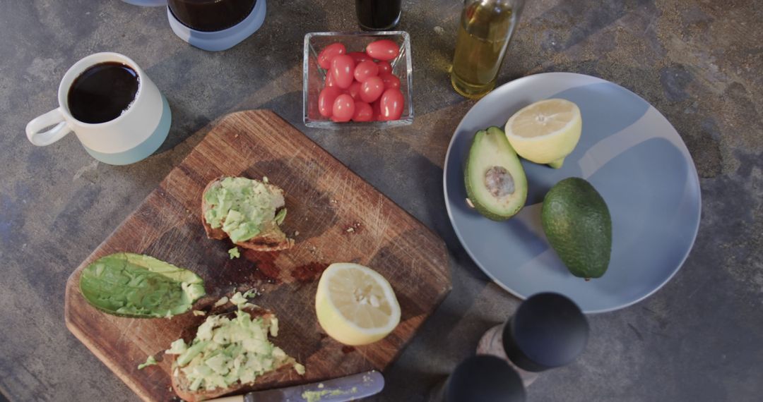
{"label": "white and pale-blue handled mug filled with black coffee", "polygon": [[148,158],[172,124],[159,88],[119,53],[95,53],[74,63],[58,87],[58,104],[27,124],[27,139],[45,146],[74,132],[85,151],[106,164]]}

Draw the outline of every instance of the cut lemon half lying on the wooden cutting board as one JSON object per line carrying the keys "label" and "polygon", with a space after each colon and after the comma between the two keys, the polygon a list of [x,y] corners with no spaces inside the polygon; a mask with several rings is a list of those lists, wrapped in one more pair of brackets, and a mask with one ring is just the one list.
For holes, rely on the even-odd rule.
{"label": "cut lemon half lying on the wooden cutting board", "polygon": [[315,294],[320,327],[346,345],[386,337],[400,323],[400,305],[387,279],[356,263],[333,263],[320,276]]}

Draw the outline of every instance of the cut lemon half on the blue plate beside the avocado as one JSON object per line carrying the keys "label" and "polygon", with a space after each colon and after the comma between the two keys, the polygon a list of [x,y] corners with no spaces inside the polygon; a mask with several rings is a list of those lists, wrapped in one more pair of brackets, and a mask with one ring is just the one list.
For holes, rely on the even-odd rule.
{"label": "cut lemon half on the blue plate beside the avocado", "polygon": [[575,149],[583,128],[578,105],[547,99],[523,107],[506,122],[506,137],[522,158],[561,168]]}

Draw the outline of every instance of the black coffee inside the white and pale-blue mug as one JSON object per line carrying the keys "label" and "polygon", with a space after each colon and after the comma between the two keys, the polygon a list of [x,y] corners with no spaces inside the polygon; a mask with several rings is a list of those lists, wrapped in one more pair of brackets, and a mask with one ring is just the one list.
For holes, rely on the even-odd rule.
{"label": "black coffee inside the white and pale-blue mug", "polygon": [[90,66],[69,87],[69,113],[82,123],[106,123],[121,116],[135,100],[138,73],[120,62]]}

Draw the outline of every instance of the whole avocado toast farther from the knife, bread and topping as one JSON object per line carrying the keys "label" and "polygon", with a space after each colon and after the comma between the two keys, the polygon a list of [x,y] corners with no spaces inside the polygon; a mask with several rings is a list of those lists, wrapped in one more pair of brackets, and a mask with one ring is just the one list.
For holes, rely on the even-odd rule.
{"label": "whole avocado toast farther from the knife, bread and topping", "polygon": [[258,251],[287,250],[294,240],[278,226],[286,217],[284,191],[246,177],[217,177],[201,194],[201,223],[208,238],[230,238]]}

